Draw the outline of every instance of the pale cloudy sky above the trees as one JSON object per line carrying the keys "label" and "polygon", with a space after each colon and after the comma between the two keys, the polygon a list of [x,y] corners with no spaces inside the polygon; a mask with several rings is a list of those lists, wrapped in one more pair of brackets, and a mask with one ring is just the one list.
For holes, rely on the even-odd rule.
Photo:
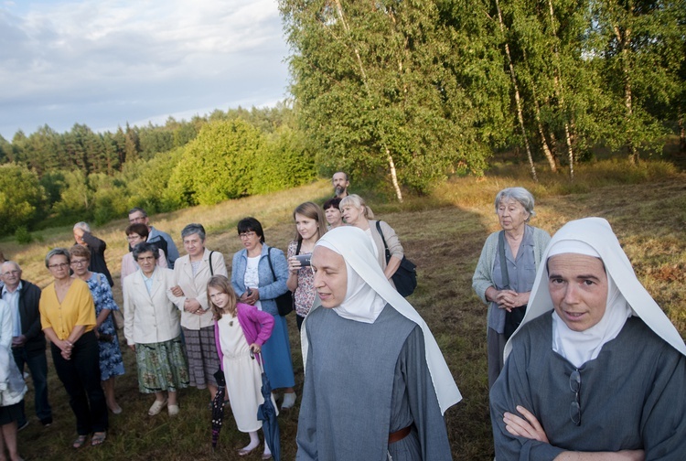
{"label": "pale cloudy sky above the trees", "polygon": [[288,53],[277,0],[0,0],[0,135],[273,106]]}

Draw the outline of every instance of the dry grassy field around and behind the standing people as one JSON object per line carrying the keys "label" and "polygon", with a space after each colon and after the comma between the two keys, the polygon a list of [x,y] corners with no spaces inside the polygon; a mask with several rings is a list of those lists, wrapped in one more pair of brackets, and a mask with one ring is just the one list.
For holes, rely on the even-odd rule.
{"label": "dry grassy field around and behind the standing people", "polygon": [[[576,181],[570,182],[541,173],[541,182],[534,185],[525,168],[496,166],[484,179],[456,178],[431,196],[410,198],[402,205],[369,195],[377,216],[397,231],[406,255],[417,263],[419,286],[409,299],[432,328],[464,395],[463,402],[445,413],[456,460],[493,459],[486,375],[486,306],[473,294],[471,277],[488,233],[498,230],[492,200],[500,188],[529,188],[537,199],[537,216],[531,224],[551,234],[568,220],[585,216],[609,220],[639,279],[677,325],[682,337],[686,335],[686,175],[663,162],[640,167],[602,162],[580,166],[576,175]],[[238,220],[255,216],[263,222],[267,242],[285,249],[294,237],[291,213],[295,206],[310,199],[322,202],[330,193],[330,184],[320,181],[267,197],[155,216],[151,222],[170,231],[177,241],[186,224],[203,223],[209,233],[207,247],[223,252],[230,263],[232,254],[241,248],[235,231]],[[117,299],[121,299],[118,270],[126,251],[126,224],[127,221],[120,220],[94,230],[108,242],[106,255],[117,278]],[[43,265],[45,253],[51,247],[72,242],[70,229],[43,232],[42,238],[42,242],[25,247],[9,241],[0,243],[5,255],[22,264],[25,278],[40,286],[48,283],[48,271]],[[296,391],[300,393],[303,364],[293,315],[288,323]],[[247,438],[237,432],[229,413],[220,445],[212,452],[207,391],[182,391],[181,413],[175,419],[168,418],[166,413],[149,417],[147,408],[152,397],[138,392],[134,356],[128,348],[123,353],[126,374],[116,385],[123,413],[111,415],[107,442],[98,448],[70,449],[75,436],[74,418],[66,393],[51,369],[49,391],[55,423],[47,429],[40,426],[29,391],[27,415],[32,423],[19,434],[20,453],[26,459],[243,459],[235,455],[235,449],[244,445]],[[296,405],[279,417],[286,460],[295,458],[297,414]],[[259,455],[245,459],[259,459]]]}

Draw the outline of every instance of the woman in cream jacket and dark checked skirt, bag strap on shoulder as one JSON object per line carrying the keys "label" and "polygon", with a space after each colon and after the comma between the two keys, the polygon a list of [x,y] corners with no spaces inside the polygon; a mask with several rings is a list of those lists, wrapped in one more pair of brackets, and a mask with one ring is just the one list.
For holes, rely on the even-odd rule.
{"label": "woman in cream jacket and dark checked skirt, bag strap on shoulder", "polygon": [[181,329],[188,351],[190,385],[209,389],[211,399],[217,394],[214,373],[220,369],[220,357],[214,340],[214,315],[208,302],[208,282],[213,275],[229,273],[221,252],[205,248],[205,228],[188,224],[181,230],[188,254],[174,263],[174,283],[169,299],[181,310]]}

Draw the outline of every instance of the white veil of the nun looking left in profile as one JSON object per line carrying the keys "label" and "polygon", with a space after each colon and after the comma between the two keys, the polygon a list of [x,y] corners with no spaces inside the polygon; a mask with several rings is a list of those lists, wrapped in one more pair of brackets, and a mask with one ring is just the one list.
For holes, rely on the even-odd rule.
{"label": "white veil of the nun looking left in profile", "polygon": [[[434,382],[434,390],[438,397],[441,413],[445,413],[452,405],[462,400],[453,375],[448,370],[443,354],[431,334],[423,318],[414,310],[405,298],[398,294],[381,271],[376,254],[372,251],[369,237],[352,226],[343,226],[329,230],[316,242],[317,246],[324,246],[337,252],[346,262],[348,273],[348,293],[341,306],[333,310],[339,316],[358,322],[374,323],[388,303],[402,316],[412,320],[422,328],[426,364]],[[320,308],[319,303],[312,307],[310,313]],[[342,308],[342,309],[341,309]],[[341,309],[339,311],[339,309]],[[303,361],[307,363],[307,322],[303,323],[300,333],[303,348]]]}

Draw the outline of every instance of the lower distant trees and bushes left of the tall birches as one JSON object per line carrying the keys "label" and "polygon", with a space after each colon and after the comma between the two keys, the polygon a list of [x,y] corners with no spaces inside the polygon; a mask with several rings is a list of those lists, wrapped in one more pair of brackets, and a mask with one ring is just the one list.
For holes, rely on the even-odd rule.
{"label": "lower distant trees and bushes left of the tall birches", "polygon": [[155,213],[291,188],[316,177],[293,110],[216,110],[190,121],[95,133],[75,124],[0,136],[0,235],[133,207]]}

